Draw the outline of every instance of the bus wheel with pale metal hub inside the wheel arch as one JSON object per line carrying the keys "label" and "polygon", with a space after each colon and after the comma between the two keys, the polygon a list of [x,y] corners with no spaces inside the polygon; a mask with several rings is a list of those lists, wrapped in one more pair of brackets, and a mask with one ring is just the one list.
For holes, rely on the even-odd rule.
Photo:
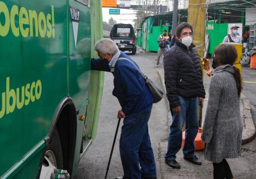
{"label": "bus wheel with pale metal hub inside the wheel arch", "polygon": [[54,169],[63,169],[63,154],[58,130],[53,131],[49,145],[45,149],[45,158],[39,179],[50,179]]}

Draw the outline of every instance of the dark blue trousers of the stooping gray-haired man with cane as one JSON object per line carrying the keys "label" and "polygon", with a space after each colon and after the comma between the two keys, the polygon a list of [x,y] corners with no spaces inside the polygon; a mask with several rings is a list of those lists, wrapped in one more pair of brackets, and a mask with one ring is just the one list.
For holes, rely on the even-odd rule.
{"label": "dark blue trousers of the stooping gray-haired man with cane", "polygon": [[124,179],[157,176],[148,131],[151,109],[152,106],[143,112],[130,114],[123,120],[120,136],[120,157],[124,170]]}

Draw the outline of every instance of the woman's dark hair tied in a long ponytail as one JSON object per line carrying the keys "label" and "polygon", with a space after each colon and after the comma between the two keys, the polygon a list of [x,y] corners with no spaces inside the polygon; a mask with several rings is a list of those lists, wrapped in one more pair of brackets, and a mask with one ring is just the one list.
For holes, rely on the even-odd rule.
{"label": "woman's dark hair tied in a long ponytail", "polygon": [[[220,62],[224,65],[229,64],[233,66],[236,58],[237,58],[237,52],[232,44],[220,44],[214,49],[215,59],[220,60]],[[240,70],[233,66],[234,70],[234,77],[236,81],[236,87],[238,91],[238,95],[241,95],[242,91],[242,77]]]}

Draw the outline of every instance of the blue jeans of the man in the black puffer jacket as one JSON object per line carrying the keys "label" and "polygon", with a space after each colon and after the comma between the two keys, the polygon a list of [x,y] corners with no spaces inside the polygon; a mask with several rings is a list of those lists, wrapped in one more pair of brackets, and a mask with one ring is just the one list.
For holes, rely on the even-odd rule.
{"label": "blue jeans of the man in the black puffer jacket", "polygon": [[175,160],[177,152],[181,149],[182,127],[186,121],[185,143],[183,148],[184,157],[194,157],[194,140],[198,132],[198,97],[183,98],[178,96],[181,103],[180,115],[173,113],[173,123],[170,126],[166,160]]}

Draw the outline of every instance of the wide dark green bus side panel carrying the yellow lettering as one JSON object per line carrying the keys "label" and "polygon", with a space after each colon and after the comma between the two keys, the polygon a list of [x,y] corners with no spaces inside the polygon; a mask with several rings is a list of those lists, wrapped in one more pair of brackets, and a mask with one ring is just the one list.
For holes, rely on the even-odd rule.
{"label": "wide dark green bus side panel carrying the yellow lettering", "polygon": [[5,0],[0,7],[1,176],[48,134],[68,94],[68,45],[66,1]]}

